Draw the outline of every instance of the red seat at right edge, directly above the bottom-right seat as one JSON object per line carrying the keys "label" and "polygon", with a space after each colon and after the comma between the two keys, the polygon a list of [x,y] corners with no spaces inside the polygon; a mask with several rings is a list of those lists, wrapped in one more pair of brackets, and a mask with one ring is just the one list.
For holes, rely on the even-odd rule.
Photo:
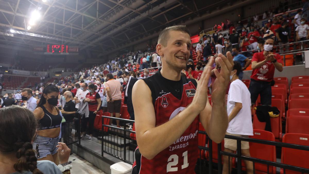
{"label": "red seat at right edge, directly above the bottom-right seat", "polygon": [[309,134],[309,117],[290,115],[286,120],[286,133]]}

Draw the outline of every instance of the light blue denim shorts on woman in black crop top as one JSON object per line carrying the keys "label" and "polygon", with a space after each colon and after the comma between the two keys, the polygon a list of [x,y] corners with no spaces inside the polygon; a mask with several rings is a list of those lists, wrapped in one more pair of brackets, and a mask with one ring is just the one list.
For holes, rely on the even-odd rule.
{"label": "light blue denim shorts on woman in black crop top", "polygon": [[44,158],[47,155],[54,155],[57,153],[58,148],[56,147],[59,142],[59,137],[49,138],[36,136],[36,139],[33,142],[33,149],[36,150],[36,157],[38,159]]}

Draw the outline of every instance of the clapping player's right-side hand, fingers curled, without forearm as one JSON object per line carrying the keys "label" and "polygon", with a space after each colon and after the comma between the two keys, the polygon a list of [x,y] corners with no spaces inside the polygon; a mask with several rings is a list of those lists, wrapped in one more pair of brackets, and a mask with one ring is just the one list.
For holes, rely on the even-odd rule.
{"label": "clapping player's right-side hand, fingers curled, without forearm", "polygon": [[224,102],[227,85],[230,81],[230,74],[234,66],[233,56],[230,51],[226,53],[226,57],[221,53],[218,57],[221,71],[219,72],[217,69],[214,70],[214,74],[217,78],[214,81],[211,94],[211,100],[213,103]]}

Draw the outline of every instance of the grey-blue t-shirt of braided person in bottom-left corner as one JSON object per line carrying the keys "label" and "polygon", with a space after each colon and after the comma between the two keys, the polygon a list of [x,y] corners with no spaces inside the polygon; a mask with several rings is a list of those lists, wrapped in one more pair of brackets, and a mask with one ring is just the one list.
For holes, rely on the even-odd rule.
{"label": "grey-blue t-shirt of braided person in bottom-left corner", "polygon": [[[48,161],[48,160],[38,161],[36,166],[43,173],[62,174],[62,172],[56,166],[56,164],[51,162],[51,161]],[[32,172],[30,172],[30,171],[23,172],[23,173],[14,172],[14,173],[11,173],[11,174],[32,174]]]}

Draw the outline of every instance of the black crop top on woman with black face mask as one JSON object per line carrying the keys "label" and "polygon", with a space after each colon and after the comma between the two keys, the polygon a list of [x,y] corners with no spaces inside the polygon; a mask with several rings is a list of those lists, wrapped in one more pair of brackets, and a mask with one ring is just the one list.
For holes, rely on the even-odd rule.
{"label": "black crop top on woman with black face mask", "polygon": [[62,117],[58,111],[58,115],[53,115],[46,110],[46,108],[42,105],[40,106],[44,111],[44,117],[39,121],[39,129],[38,130],[46,130],[53,128],[60,128],[60,124],[62,121]]}

